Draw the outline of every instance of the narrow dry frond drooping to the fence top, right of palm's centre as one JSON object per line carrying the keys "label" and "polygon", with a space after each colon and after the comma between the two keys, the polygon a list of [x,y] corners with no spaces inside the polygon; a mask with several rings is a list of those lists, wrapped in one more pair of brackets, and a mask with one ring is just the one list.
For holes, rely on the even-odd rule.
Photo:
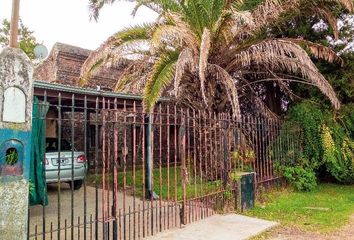
{"label": "narrow dry frond drooping to the fence top, right of palm's centre", "polygon": [[212,74],[215,74],[216,80],[218,82],[221,82],[225,86],[227,96],[231,103],[233,117],[237,120],[240,119],[241,117],[240,104],[238,100],[237,89],[233,78],[225,69],[223,69],[222,67],[216,64],[208,64],[208,71]]}

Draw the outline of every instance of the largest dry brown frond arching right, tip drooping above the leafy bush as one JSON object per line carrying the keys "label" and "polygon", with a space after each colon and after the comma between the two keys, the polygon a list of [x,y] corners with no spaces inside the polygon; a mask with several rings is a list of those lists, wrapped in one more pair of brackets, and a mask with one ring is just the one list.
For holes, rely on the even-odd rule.
{"label": "largest dry brown frond arching right, tip drooping above the leafy bush", "polygon": [[286,40],[267,40],[251,46],[239,53],[227,69],[251,65],[266,66],[271,70],[278,69],[293,74],[300,74],[325,94],[332,105],[340,108],[340,102],[332,88],[317,67],[311,61],[306,51],[297,44]]}

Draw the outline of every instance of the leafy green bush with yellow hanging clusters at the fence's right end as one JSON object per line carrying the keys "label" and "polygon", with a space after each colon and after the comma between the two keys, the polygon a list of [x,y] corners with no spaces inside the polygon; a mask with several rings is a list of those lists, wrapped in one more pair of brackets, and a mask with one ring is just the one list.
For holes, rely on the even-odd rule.
{"label": "leafy green bush with yellow hanging clusters at the fence's right end", "polygon": [[299,142],[296,153],[283,153],[277,168],[297,189],[313,190],[319,178],[354,183],[353,104],[333,113],[302,102],[290,109],[283,128],[283,134],[296,134]]}

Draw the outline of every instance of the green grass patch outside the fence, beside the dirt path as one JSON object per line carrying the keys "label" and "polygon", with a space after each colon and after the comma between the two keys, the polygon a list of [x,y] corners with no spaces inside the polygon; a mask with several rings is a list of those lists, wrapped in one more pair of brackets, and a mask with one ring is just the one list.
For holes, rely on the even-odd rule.
{"label": "green grass patch outside the fence, beside the dirt path", "polygon": [[312,192],[289,189],[271,191],[248,216],[278,221],[305,231],[338,230],[354,214],[354,185],[321,184]]}

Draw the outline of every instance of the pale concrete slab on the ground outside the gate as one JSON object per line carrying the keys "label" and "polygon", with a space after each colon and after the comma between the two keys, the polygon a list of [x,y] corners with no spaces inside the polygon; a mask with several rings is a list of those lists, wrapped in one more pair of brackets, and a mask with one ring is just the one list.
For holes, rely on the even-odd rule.
{"label": "pale concrete slab on the ground outside the gate", "polygon": [[278,223],[241,215],[215,215],[185,226],[162,232],[149,240],[241,240],[267,231]]}

